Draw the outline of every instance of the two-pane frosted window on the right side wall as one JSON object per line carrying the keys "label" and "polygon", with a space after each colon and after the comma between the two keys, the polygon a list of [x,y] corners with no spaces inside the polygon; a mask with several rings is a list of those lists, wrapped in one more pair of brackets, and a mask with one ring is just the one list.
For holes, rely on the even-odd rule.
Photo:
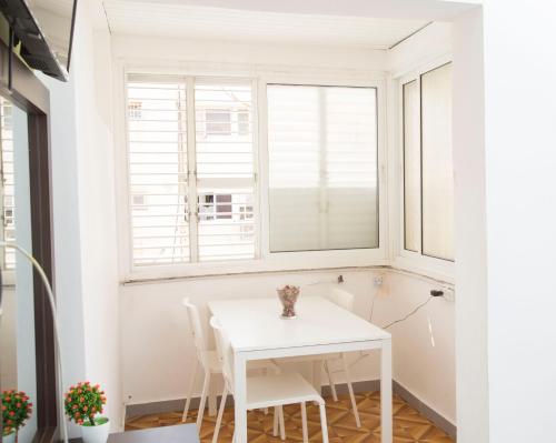
{"label": "two-pane frosted window on the right side wall", "polygon": [[451,64],[420,74],[401,91],[405,249],[453,261]]}

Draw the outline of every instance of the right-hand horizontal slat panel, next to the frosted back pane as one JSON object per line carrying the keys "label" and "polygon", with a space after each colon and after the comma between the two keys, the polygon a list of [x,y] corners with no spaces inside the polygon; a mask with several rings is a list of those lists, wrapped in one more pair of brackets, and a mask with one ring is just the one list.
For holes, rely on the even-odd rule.
{"label": "right-hand horizontal slat panel, next to the frosted back pane", "polygon": [[250,82],[195,84],[199,261],[255,256]]}

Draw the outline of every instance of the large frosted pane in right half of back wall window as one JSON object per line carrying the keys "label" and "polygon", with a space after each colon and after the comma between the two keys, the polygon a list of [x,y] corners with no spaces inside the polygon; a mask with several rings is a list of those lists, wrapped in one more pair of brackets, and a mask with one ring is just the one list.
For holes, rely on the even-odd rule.
{"label": "large frosted pane in right half of back wall window", "polygon": [[376,89],[267,97],[270,252],[378,248]]}

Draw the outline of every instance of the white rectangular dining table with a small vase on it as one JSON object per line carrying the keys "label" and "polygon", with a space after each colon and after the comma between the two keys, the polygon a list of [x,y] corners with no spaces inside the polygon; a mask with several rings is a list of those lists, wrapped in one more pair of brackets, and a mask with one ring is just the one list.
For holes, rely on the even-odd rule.
{"label": "white rectangular dining table with a small vase on it", "polygon": [[319,296],[300,296],[297,319],[280,319],[278,298],[210,301],[234,349],[236,443],[247,443],[246,365],[280,359],[379,349],[381,443],[391,443],[391,336]]}

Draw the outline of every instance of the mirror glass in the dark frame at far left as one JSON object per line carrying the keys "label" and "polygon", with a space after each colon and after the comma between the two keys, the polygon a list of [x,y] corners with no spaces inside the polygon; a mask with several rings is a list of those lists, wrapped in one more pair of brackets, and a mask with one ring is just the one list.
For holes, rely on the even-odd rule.
{"label": "mirror glass in the dark frame at far left", "polygon": [[23,255],[6,246],[32,251],[28,114],[0,98],[0,125],[2,441],[28,443],[38,429],[33,273]]}

